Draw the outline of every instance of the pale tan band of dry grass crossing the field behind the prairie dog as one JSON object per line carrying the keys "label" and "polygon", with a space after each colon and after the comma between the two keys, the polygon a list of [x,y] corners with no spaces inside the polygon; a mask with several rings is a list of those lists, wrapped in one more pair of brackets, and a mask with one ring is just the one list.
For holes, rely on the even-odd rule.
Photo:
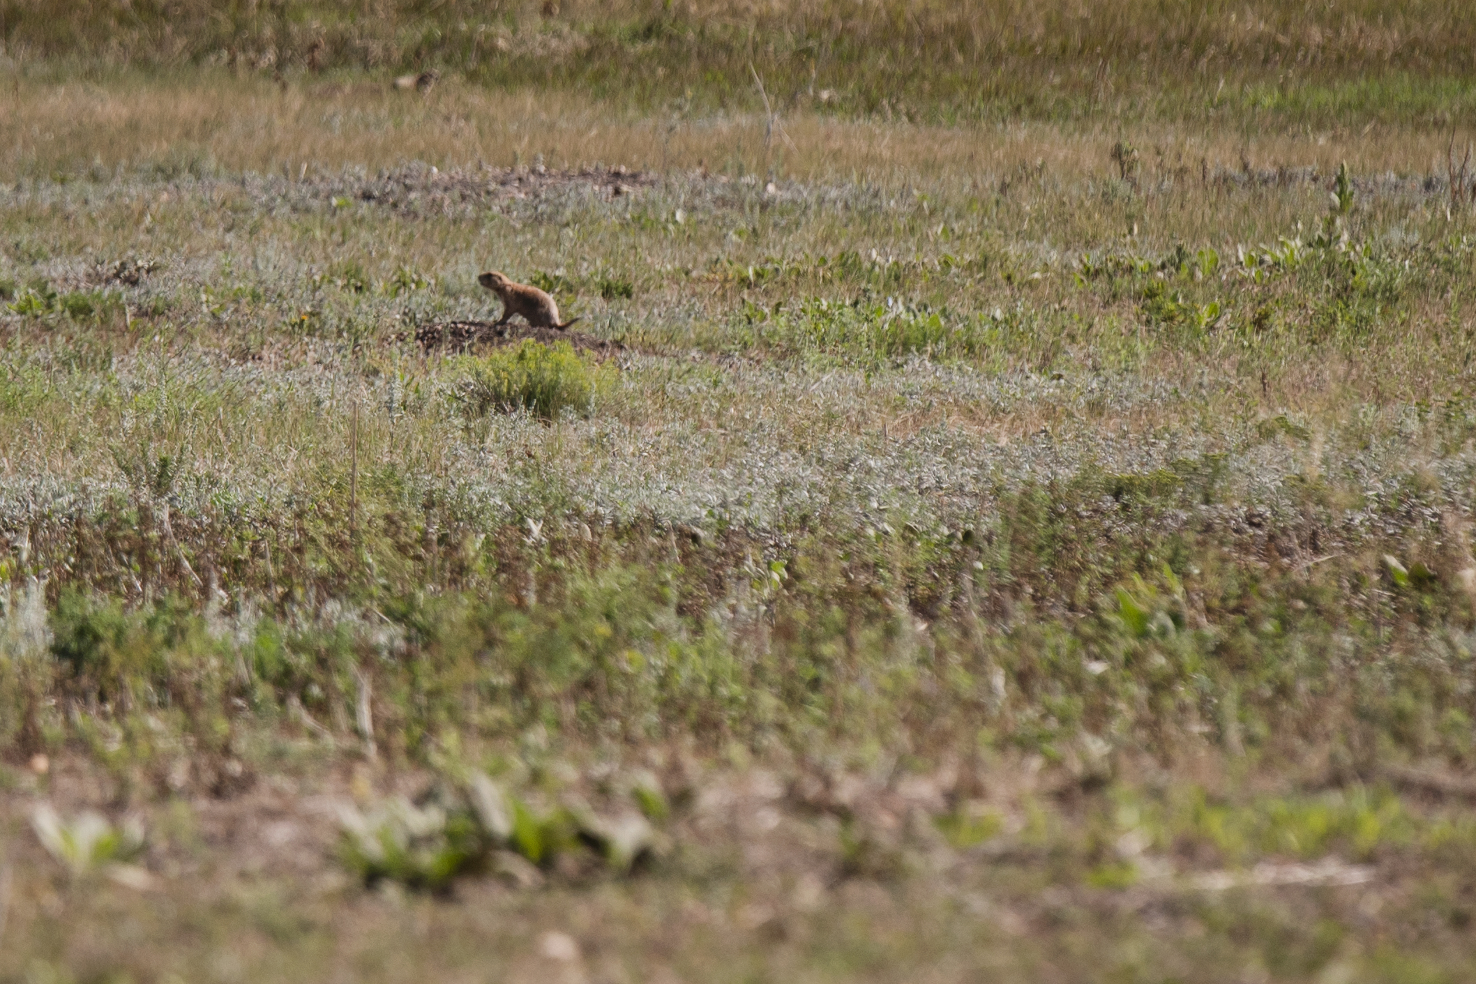
{"label": "pale tan band of dry grass crossing the field behind the prairie dog", "polygon": [[[0,119],[4,167],[18,176],[86,176],[94,168],[156,167],[176,173],[285,173],[344,167],[369,171],[424,161],[441,168],[486,162],[579,168],[593,164],[762,174],[806,181],[878,181],[993,190],[1011,176],[1063,183],[1116,171],[1122,124],[1011,121],[943,127],[847,121],[799,109],[770,130],[762,114],[651,118],[561,91],[499,91],[443,80],[428,96],[379,81],[294,80],[226,74],[151,78],[124,74],[106,86],[18,80]],[[1293,133],[1240,133],[1213,121],[1139,122],[1145,181],[1201,174],[1317,168],[1346,161],[1358,174],[1441,174],[1451,133],[1424,121],[1327,125]],[[1281,215],[1268,217],[1278,224]],[[1224,229],[1199,209],[1184,233]],[[1199,223],[1196,227],[1194,223]]]}

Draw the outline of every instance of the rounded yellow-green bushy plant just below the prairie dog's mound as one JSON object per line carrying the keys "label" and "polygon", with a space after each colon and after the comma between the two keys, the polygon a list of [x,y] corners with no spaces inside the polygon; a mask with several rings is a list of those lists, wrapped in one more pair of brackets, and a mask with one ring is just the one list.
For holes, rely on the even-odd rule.
{"label": "rounded yellow-green bushy plant just below the prairie dog's mound", "polygon": [[565,409],[587,415],[593,407],[599,370],[568,342],[545,345],[531,339],[463,361],[466,375],[456,397],[474,416],[493,410],[527,410],[552,420]]}

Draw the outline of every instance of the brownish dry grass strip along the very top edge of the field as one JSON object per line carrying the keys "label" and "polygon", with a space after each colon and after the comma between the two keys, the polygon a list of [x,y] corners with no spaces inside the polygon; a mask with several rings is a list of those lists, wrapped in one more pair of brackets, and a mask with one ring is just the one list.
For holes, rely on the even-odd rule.
{"label": "brownish dry grass strip along the very top edge of the field", "polygon": [[[751,3],[694,0],[652,3],[416,3],[218,4],[133,3],[97,9],[86,3],[10,0],[4,34],[13,56],[89,55],[109,62],[179,63],[218,55],[270,66],[341,63],[407,65],[480,58],[576,60],[592,44],[620,40],[646,53],[716,58],[796,56],[803,68],[846,65],[906,53],[934,62],[897,66],[946,78],[951,69],[992,59],[1035,56],[1052,68],[1073,63],[1147,62],[1179,74],[1237,66],[1343,69],[1408,66],[1452,72],[1469,66],[1470,24],[1452,0],[1361,0],[1290,7],[1255,3],[1132,0],[1083,4],[970,0],[968,3],[871,3],[835,0]],[[542,44],[528,38],[543,37]],[[521,40],[521,44],[514,44]],[[757,40],[757,41],[756,41]],[[562,43],[558,43],[562,41]],[[661,68],[676,69],[667,60]],[[562,65],[561,65],[562,68]],[[621,66],[623,68],[623,66]],[[686,66],[680,66],[686,68]],[[527,66],[524,66],[527,71]],[[596,69],[598,71],[598,69]],[[641,80],[632,80],[641,84]]]}

